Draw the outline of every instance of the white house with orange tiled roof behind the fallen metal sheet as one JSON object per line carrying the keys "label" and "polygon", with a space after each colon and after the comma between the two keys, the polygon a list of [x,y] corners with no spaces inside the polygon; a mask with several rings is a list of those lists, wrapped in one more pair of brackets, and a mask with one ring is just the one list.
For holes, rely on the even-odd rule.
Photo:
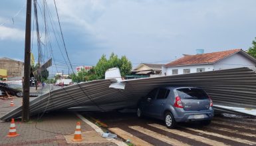
{"label": "white house with orange tiled roof behind the fallen metal sheet", "polygon": [[184,55],[184,57],[165,64],[162,76],[224,70],[247,67],[256,70],[256,59],[242,49],[211,52],[205,54]]}

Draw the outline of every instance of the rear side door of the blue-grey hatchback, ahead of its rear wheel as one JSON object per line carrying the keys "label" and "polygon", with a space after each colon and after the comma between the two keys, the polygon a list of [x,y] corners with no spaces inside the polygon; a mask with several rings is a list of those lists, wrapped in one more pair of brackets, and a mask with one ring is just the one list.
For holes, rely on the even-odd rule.
{"label": "rear side door of the blue-grey hatchback, ahead of its rear wheel", "polygon": [[151,113],[154,117],[162,118],[164,107],[166,106],[166,98],[169,96],[170,90],[160,88],[155,100],[152,101]]}

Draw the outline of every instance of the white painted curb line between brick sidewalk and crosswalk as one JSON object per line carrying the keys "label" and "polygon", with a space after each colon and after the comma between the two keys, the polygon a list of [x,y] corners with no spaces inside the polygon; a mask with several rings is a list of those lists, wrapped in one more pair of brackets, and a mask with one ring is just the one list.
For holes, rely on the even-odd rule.
{"label": "white painted curb line between brick sidewalk and crosswalk", "polygon": [[[82,121],[84,121],[84,123],[87,123],[88,125],[90,125],[90,127],[92,127],[96,132],[98,132],[100,135],[102,135],[102,133],[104,133],[102,131],[102,129],[100,129],[97,125],[95,125],[94,123],[90,122],[88,119],[84,118],[82,115],[76,113],[76,116],[79,117]],[[116,139],[113,138],[107,138],[108,141],[112,142],[112,143],[116,143],[116,145],[118,146],[127,146],[126,143],[124,143],[123,141],[118,141]]]}

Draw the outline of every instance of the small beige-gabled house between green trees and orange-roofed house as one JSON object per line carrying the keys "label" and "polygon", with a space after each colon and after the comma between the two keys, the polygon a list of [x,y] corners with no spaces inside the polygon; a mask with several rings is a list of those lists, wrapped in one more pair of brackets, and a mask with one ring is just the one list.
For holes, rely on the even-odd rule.
{"label": "small beige-gabled house between green trees and orange-roofed house", "polygon": [[132,74],[126,76],[127,79],[130,78],[148,78],[151,76],[160,76],[162,72],[162,66],[164,64],[146,64],[141,63],[134,70]]}

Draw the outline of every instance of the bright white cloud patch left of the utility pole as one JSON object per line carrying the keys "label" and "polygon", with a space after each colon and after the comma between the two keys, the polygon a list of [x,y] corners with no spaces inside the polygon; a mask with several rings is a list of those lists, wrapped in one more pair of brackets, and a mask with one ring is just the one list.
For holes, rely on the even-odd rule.
{"label": "bright white cloud patch left of the utility pole", "polygon": [[24,40],[25,31],[5,26],[0,26],[0,40]]}

